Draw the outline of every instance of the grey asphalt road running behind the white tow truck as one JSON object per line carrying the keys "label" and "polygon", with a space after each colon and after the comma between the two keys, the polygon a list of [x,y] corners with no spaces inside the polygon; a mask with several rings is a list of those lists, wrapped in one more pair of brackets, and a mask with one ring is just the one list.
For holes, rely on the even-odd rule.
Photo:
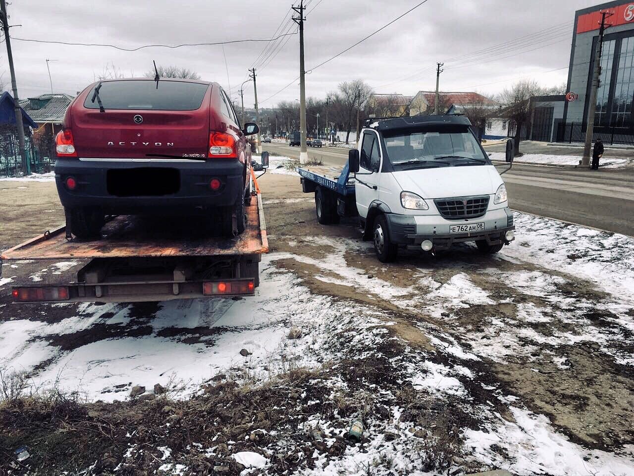
{"label": "grey asphalt road running behind the white tow truck", "polygon": [[[263,149],[299,158],[299,147],[266,143]],[[630,151],[631,152],[631,151]],[[308,148],[309,159],[342,167],[347,150]],[[500,170],[505,166],[500,165]],[[515,164],[503,176],[511,208],[634,236],[634,169],[560,168]]]}

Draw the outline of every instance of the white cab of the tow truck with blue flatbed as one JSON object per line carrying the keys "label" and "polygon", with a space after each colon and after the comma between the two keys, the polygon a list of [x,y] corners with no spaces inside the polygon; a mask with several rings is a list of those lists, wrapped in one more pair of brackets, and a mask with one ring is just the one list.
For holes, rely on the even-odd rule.
{"label": "white cab of the tow truck with blue flatbed", "polygon": [[501,174],[470,126],[462,116],[419,116],[362,129],[348,165],[364,236],[379,260],[393,260],[399,246],[436,251],[474,241],[496,253],[514,240]]}

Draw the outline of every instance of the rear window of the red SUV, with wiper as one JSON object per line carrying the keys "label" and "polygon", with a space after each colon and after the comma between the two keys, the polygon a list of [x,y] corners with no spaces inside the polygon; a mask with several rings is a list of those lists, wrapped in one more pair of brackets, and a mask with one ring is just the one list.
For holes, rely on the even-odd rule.
{"label": "rear window of the red SUV, with wiper", "polygon": [[[95,88],[99,86],[95,84]],[[99,97],[104,109],[195,110],[200,107],[209,84],[185,81],[103,81]],[[84,107],[99,109],[90,90]]]}

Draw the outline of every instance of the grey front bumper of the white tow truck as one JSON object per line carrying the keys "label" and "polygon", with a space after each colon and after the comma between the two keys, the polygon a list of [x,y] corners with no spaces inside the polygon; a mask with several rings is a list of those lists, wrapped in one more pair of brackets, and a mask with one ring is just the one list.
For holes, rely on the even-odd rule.
{"label": "grey front bumper of the white tow truck", "polygon": [[[486,241],[489,245],[509,244],[514,237],[507,232],[515,230],[513,212],[507,208],[488,211],[480,218],[446,220],[439,215],[385,215],[392,243],[407,248],[420,248],[422,242],[431,241],[435,250],[449,249],[455,243]],[[469,233],[451,233],[452,225],[484,223],[484,230]],[[509,239],[510,238],[510,239]]]}

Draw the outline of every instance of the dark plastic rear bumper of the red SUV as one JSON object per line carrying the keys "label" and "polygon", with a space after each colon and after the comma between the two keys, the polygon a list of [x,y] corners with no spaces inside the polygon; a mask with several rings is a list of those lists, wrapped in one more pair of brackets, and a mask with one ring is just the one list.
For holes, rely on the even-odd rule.
{"label": "dark plastic rear bumper of the red SUV", "polygon": [[[236,159],[131,161],[57,159],[55,182],[67,208],[98,207],[107,214],[165,213],[230,206],[243,193],[244,164]],[[65,181],[72,176],[75,190]],[[213,178],[221,181],[211,190]]]}

